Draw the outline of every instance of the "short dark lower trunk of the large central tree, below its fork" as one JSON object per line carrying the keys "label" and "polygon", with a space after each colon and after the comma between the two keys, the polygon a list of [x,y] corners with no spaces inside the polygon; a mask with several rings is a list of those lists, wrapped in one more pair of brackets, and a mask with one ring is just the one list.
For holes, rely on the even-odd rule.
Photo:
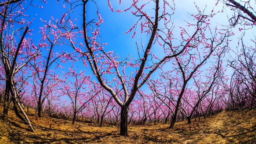
{"label": "short dark lower trunk of the large central tree, below its fork", "polygon": [[128,107],[129,106],[122,106],[121,113],[120,113],[120,135],[121,136],[128,136]]}

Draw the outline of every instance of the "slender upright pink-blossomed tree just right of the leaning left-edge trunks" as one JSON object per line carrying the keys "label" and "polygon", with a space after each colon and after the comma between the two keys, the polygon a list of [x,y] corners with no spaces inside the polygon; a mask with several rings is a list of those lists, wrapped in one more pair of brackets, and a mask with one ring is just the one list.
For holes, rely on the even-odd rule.
{"label": "slender upright pink-blossomed tree just right of the leaning left-edge trunks", "polygon": [[[61,67],[59,61],[65,62],[64,58],[68,55],[65,52],[58,54],[54,52],[53,48],[62,45],[59,42],[62,33],[58,31],[57,26],[51,24],[50,22],[44,22],[44,27],[41,27],[42,39],[39,41],[38,46],[40,48],[45,48],[44,53],[48,53],[46,56],[41,55],[40,58],[34,59],[30,62],[33,67],[31,69],[33,76],[33,84],[31,87],[34,91],[34,96],[36,97],[38,116],[41,117],[42,104],[47,96],[50,94],[53,87],[60,85],[62,78],[54,72],[58,67]],[[61,60],[62,59],[62,60]],[[55,64],[54,70],[51,69],[52,65]]]}

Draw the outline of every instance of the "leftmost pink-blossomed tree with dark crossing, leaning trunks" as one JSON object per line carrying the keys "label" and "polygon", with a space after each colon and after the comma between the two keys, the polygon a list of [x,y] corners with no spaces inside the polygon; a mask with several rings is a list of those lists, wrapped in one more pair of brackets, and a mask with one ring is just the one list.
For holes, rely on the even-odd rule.
{"label": "leftmost pink-blossomed tree with dark crossing, leaning trunks", "polygon": [[[25,38],[30,31],[28,26],[31,22],[25,21],[26,15],[24,12],[26,8],[23,8],[24,3],[24,0],[8,0],[0,3],[0,53],[1,66],[4,67],[3,75],[6,81],[3,119],[5,121],[8,119],[8,103],[11,97],[13,104],[18,105],[30,129],[34,132],[34,128],[22,108],[19,99],[20,92],[16,84],[17,74],[24,72],[22,68],[27,66],[30,60],[40,55],[32,39]],[[20,117],[19,115],[17,116]]]}

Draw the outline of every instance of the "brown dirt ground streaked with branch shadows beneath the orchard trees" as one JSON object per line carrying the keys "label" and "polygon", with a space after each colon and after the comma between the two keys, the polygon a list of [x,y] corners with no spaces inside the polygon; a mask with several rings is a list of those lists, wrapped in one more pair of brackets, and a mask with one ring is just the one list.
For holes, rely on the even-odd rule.
{"label": "brown dirt ground streaked with branch shadows beneath the orchard trees", "polygon": [[[2,106],[0,106],[2,113]],[[1,114],[0,114],[1,115]],[[128,125],[128,137],[120,136],[116,125],[59,120],[31,110],[28,116],[36,132],[18,120],[12,110],[9,121],[0,120],[0,144],[256,144],[256,110],[222,111],[192,124]]]}

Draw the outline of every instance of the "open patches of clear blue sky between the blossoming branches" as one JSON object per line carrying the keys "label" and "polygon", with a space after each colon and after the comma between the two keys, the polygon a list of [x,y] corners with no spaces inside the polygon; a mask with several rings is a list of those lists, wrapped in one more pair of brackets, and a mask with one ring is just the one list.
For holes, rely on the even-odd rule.
{"label": "open patches of clear blue sky between the blossoming branches", "polygon": [[[37,3],[38,2],[38,3]],[[112,0],[111,3],[113,5],[114,9],[124,9],[127,7],[126,4],[130,4],[131,0],[123,0],[122,4],[119,5],[118,0]],[[217,12],[218,10],[222,9],[223,4],[219,4],[218,7],[215,7],[216,0],[176,0],[176,10],[174,16],[172,16],[172,19],[174,21],[174,24],[178,26],[185,26],[186,22],[184,20],[192,22],[192,17],[190,14],[196,13],[196,8],[194,6],[194,2],[200,7],[201,10],[203,10],[206,7],[205,13],[209,14],[214,7],[214,12]],[[59,2],[56,4],[56,0],[48,0],[47,3],[42,3],[41,1],[33,1],[34,4],[37,6],[43,6],[43,8],[37,8],[37,7],[29,7],[27,10],[27,13],[30,15],[30,18],[34,18],[34,22],[31,24],[30,29],[33,29],[33,39],[34,42],[38,42],[40,40],[40,34],[38,33],[40,31],[39,27],[43,26],[43,23],[40,21],[40,18],[43,20],[49,21],[51,20],[50,16],[53,18],[60,19],[62,14],[68,10],[68,5],[66,4],[66,8],[63,8],[62,3]],[[140,34],[140,26],[138,26],[137,34],[135,38],[131,38],[132,33],[124,34],[127,30],[129,30],[135,22],[137,22],[138,18],[132,16],[130,12],[124,12],[124,13],[118,13],[118,12],[111,12],[108,8],[107,1],[101,1],[97,3],[97,6],[99,8],[99,12],[104,19],[104,23],[100,25],[100,36],[102,37],[101,42],[102,43],[108,43],[107,46],[105,46],[105,50],[114,50],[115,53],[118,53],[119,56],[121,56],[120,60],[126,58],[128,54],[131,56],[137,57],[137,49],[135,42],[142,42],[144,45],[148,42],[148,37],[145,34]],[[130,6],[130,5],[129,5]],[[93,2],[89,2],[87,4],[87,19],[96,19],[96,6]],[[149,9],[150,10],[150,9]],[[78,8],[75,9],[74,14],[72,14],[72,17],[76,18],[77,25],[81,28],[82,27],[82,6],[78,6]],[[37,15],[37,16],[36,16]],[[228,18],[227,15],[232,15],[232,12],[230,11],[230,8],[226,8],[223,13],[219,13],[213,22],[211,23],[212,26],[221,26],[221,25],[228,25]],[[97,20],[97,19],[96,19]],[[239,32],[237,28],[232,28],[234,32],[236,32],[235,36],[232,36],[234,38],[234,42],[230,43],[231,48],[236,47],[236,40],[241,35],[242,32]],[[188,32],[193,32],[193,29],[187,29]],[[180,36],[180,29],[176,28],[175,31],[177,36]],[[250,38],[253,36],[253,31],[246,32],[246,37]],[[248,42],[250,43],[250,42]],[[58,47],[58,49],[72,51],[72,49],[67,47]],[[152,51],[156,53],[158,56],[163,56],[162,51],[160,51],[156,46],[153,46]],[[226,55],[228,58],[232,54],[230,52],[228,55]],[[65,65],[65,68],[68,68],[70,66],[70,63]],[[77,67],[78,70],[84,69],[84,66],[82,66],[81,63],[76,63],[75,68]],[[168,67],[167,67],[168,69]],[[64,70],[63,70],[64,71]],[[59,71],[60,72],[60,71]],[[88,74],[92,75],[92,72],[90,69],[87,70]],[[155,76],[157,76],[159,71],[156,71],[154,73]]]}

